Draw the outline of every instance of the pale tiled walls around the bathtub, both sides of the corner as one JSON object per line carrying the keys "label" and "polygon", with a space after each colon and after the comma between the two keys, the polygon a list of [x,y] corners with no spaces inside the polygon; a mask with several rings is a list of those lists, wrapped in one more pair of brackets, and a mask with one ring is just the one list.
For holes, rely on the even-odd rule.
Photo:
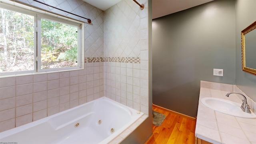
{"label": "pale tiled walls around the bathtub, both sides of the corner", "polygon": [[[87,22],[32,0],[8,3],[14,1]],[[140,1],[144,10],[122,0],[105,12],[82,0],[41,1],[92,20],[84,25],[85,68],[0,78],[0,132],[102,96],[148,114],[147,0]]]}

